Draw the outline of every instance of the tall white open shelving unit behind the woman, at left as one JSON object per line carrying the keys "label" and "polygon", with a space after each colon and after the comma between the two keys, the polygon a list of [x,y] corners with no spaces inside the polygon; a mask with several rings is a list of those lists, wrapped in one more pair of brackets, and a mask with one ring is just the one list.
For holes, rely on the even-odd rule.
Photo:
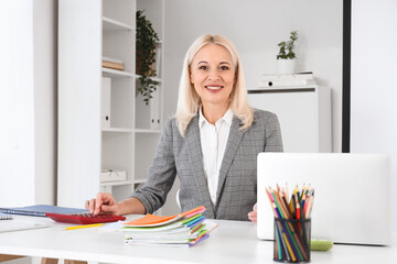
{"label": "tall white open shelving unit behind the woman, at left", "polygon": [[[162,40],[163,0],[58,2],[58,206],[82,207],[98,191],[125,199],[148,175],[163,123],[163,82],[159,76],[155,105],[136,92],[137,10],[146,10]],[[104,56],[121,61],[124,70],[103,67]],[[103,77],[110,78],[107,92]],[[126,179],[101,183],[109,169]]]}

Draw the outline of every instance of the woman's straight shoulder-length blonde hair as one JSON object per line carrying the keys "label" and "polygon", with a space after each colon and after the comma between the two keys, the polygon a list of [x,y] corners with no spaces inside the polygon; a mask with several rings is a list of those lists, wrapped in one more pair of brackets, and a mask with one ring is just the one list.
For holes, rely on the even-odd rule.
{"label": "woman's straight shoulder-length blonde hair", "polygon": [[236,81],[230,94],[230,106],[233,113],[242,120],[240,129],[248,129],[254,121],[254,111],[247,101],[247,89],[245,86],[244,72],[240,64],[237,50],[226,37],[222,35],[202,35],[193,42],[183,61],[183,69],[179,86],[178,107],[176,107],[176,125],[184,138],[186,128],[191,120],[197,114],[201,106],[201,99],[190,80],[190,65],[194,55],[205,45],[216,44],[225,47],[232,55],[236,68]]}

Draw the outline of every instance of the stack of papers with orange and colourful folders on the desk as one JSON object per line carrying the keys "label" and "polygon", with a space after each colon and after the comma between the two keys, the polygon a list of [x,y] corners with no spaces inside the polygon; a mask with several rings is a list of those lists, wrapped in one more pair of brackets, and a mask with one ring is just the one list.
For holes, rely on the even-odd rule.
{"label": "stack of papers with orange and colourful folders on the desk", "polygon": [[126,244],[192,246],[207,239],[217,224],[204,216],[205,207],[160,217],[148,213],[127,223],[119,231],[125,232]]}

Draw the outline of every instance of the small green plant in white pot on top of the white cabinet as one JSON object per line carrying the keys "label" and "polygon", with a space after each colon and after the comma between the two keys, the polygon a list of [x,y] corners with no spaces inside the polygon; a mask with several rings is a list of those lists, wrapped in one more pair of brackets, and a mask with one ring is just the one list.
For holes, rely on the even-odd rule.
{"label": "small green plant in white pot on top of the white cabinet", "polygon": [[277,55],[278,73],[280,75],[293,74],[297,54],[294,53],[298,31],[292,31],[288,42],[280,42],[279,54]]}

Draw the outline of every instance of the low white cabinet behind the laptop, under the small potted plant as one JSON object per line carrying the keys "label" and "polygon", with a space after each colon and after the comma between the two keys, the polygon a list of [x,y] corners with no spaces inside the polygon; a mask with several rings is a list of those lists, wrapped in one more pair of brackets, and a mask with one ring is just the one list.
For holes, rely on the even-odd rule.
{"label": "low white cabinet behind the laptop, under the small potted plant", "polygon": [[277,114],[285,152],[332,152],[331,90],[318,86],[248,90],[253,108]]}

